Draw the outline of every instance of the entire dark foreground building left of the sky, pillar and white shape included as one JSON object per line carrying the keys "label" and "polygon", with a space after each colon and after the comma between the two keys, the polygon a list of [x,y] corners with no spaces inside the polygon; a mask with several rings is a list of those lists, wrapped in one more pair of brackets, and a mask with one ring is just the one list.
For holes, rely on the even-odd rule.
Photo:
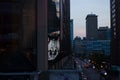
{"label": "entire dark foreground building left of the sky, pillar and white shape included", "polygon": [[70,1],[1,0],[0,6],[0,71],[61,69],[71,53]]}

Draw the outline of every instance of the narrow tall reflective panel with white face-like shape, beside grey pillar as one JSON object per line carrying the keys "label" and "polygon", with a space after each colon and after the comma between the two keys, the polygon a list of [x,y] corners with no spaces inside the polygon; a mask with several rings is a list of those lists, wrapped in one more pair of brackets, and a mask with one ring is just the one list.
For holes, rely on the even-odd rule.
{"label": "narrow tall reflective panel with white face-like shape, beside grey pillar", "polygon": [[60,53],[60,2],[48,0],[48,60],[54,61]]}

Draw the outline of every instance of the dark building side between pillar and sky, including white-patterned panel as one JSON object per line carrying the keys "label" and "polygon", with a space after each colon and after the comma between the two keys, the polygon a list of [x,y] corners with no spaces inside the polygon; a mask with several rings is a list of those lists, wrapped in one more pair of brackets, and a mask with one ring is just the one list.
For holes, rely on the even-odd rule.
{"label": "dark building side between pillar and sky, including white-patterned panel", "polygon": [[70,54],[70,1],[48,0],[48,65]]}

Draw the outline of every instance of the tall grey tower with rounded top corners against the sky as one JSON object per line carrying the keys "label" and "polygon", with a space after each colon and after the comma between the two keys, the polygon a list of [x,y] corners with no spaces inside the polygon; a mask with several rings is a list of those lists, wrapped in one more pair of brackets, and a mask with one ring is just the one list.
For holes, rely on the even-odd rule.
{"label": "tall grey tower with rounded top corners against the sky", "polygon": [[88,14],[86,17],[86,38],[87,39],[96,39],[97,38],[97,15]]}

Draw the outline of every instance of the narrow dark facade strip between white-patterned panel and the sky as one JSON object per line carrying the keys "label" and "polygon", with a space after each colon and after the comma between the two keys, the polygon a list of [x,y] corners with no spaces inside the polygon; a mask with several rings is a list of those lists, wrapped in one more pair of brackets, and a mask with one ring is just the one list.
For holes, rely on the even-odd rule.
{"label": "narrow dark facade strip between white-patterned panel and the sky", "polygon": [[70,0],[62,0],[61,12],[61,54],[68,56],[71,54],[70,41]]}

